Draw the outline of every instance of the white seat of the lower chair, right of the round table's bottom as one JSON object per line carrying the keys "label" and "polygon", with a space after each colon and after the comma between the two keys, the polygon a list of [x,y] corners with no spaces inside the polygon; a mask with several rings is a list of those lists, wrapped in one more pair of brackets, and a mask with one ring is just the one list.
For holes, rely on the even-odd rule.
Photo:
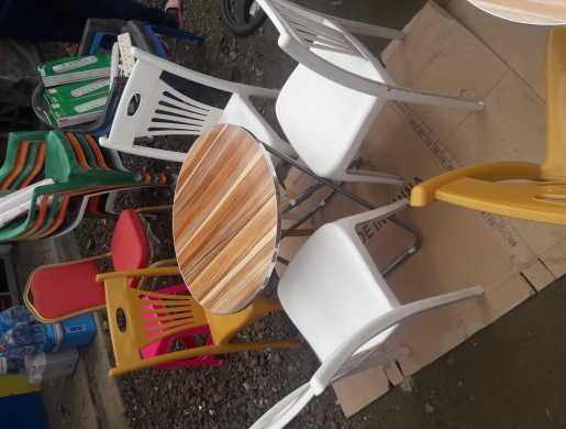
{"label": "white seat of the lower chair, right of the round table's bottom", "polygon": [[[357,235],[354,240],[359,241]],[[285,311],[323,362],[352,332],[400,306],[359,253],[367,250],[356,244],[341,226],[328,223],[302,245],[279,282]],[[393,328],[358,352],[381,343]]]}

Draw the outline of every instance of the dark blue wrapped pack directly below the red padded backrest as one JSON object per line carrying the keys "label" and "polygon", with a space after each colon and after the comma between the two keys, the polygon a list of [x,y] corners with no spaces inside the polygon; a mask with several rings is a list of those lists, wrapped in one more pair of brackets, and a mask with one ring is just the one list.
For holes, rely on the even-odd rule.
{"label": "dark blue wrapped pack directly below the red padded backrest", "polygon": [[56,352],[75,348],[78,345],[86,345],[97,333],[97,326],[92,315],[79,316],[74,319],[45,326],[45,334],[47,341],[45,343],[44,352]]}

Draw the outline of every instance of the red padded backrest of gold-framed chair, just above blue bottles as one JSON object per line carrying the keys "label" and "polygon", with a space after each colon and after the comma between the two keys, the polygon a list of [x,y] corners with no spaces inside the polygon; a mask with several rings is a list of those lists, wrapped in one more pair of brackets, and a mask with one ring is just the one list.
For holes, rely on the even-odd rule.
{"label": "red padded backrest of gold-framed chair, just above blue bottles", "polygon": [[45,319],[56,319],[106,305],[104,285],[95,282],[99,273],[96,261],[37,270],[30,284],[34,307]]}

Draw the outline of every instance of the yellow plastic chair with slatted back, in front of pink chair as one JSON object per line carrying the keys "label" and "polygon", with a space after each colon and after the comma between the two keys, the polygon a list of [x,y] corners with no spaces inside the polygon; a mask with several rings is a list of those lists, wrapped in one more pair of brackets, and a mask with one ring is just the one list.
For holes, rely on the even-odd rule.
{"label": "yellow plastic chair with slatted back, in front of pink chair", "polygon": [[[108,322],[116,361],[116,367],[109,372],[111,377],[148,366],[203,355],[300,346],[298,341],[230,342],[237,332],[252,324],[260,316],[267,312],[282,311],[279,302],[267,299],[263,294],[243,311],[234,315],[214,315],[203,309],[191,296],[164,295],[127,286],[129,277],[164,275],[180,275],[180,272],[178,267],[162,267],[106,273],[97,276],[97,282],[104,283]],[[156,301],[144,299],[144,297],[159,299],[158,305],[163,306],[163,309],[157,311],[155,309]],[[151,307],[147,308],[149,305]],[[118,323],[116,314],[120,309],[125,314],[126,327],[124,330],[121,330]],[[168,315],[156,316],[156,312],[163,314],[164,311]],[[160,324],[156,323],[159,321]],[[210,328],[213,345],[181,350],[149,359],[143,359],[141,355],[142,349],[157,340],[206,324]]]}

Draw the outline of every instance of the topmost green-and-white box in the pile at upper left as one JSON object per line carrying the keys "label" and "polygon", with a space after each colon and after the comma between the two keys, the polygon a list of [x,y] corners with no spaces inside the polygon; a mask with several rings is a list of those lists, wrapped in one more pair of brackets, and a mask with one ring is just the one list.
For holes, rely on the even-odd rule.
{"label": "topmost green-and-white box in the pile at upper left", "polygon": [[[59,58],[41,64],[37,72],[40,73],[45,87],[49,88],[56,85],[110,76],[111,59],[111,54]],[[86,65],[73,67],[66,70],[57,70],[57,67],[65,65],[74,66],[80,64],[80,62],[86,62]]]}

